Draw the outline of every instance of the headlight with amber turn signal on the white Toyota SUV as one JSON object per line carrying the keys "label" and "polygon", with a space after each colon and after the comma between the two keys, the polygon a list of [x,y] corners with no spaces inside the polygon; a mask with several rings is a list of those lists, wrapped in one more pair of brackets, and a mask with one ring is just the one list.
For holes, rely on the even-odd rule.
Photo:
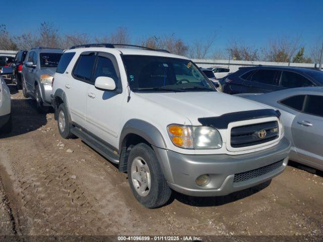
{"label": "headlight with amber turn signal on the white Toyota SUV", "polygon": [[174,145],[184,149],[220,149],[218,130],[206,126],[169,125],[168,134]]}

